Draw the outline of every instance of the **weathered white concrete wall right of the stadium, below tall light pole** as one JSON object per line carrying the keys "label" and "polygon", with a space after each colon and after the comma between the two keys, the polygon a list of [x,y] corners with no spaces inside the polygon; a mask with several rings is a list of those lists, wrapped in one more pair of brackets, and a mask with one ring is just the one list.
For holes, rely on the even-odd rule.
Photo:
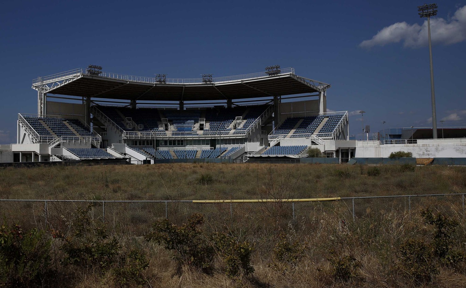
{"label": "weathered white concrete wall right of the stadium, below tall light pole", "polygon": [[355,157],[389,157],[391,152],[411,152],[415,158],[466,157],[466,143],[358,145]]}

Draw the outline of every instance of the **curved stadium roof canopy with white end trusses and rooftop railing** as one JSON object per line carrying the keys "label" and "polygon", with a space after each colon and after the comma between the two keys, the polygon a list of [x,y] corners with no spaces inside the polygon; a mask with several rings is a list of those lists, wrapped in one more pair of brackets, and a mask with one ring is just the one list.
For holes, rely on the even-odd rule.
{"label": "curved stadium roof canopy with white end trusses and rooftop railing", "polygon": [[[295,75],[295,69],[280,74],[266,72],[211,79],[140,77],[74,69],[39,77],[32,88],[42,93],[67,96],[141,101],[214,101],[323,92],[330,84]],[[212,81],[212,82],[210,82]]]}

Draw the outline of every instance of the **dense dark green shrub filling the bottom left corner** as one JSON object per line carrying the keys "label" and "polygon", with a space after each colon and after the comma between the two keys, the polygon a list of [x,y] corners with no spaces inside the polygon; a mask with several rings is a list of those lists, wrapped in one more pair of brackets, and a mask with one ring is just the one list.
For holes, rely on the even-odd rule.
{"label": "dense dark green shrub filling the bottom left corner", "polygon": [[52,276],[51,240],[36,228],[0,226],[0,287],[42,287]]}

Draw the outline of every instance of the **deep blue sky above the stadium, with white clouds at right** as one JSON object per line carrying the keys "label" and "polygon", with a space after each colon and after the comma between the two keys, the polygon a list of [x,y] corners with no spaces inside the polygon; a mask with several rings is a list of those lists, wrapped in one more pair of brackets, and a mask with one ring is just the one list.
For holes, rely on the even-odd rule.
{"label": "deep blue sky above the stadium, with white clouds at right", "polygon": [[[253,73],[279,64],[332,84],[328,108],[350,111],[350,134],[358,139],[359,110],[372,131],[383,121],[385,128],[432,126],[428,48],[417,11],[422,4],[6,2],[0,11],[0,143],[16,142],[17,113],[36,112],[32,79],[89,64],[173,78]],[[466,126],[466,2],[438,5],[431,21],[437,118],[445,126]]]}

